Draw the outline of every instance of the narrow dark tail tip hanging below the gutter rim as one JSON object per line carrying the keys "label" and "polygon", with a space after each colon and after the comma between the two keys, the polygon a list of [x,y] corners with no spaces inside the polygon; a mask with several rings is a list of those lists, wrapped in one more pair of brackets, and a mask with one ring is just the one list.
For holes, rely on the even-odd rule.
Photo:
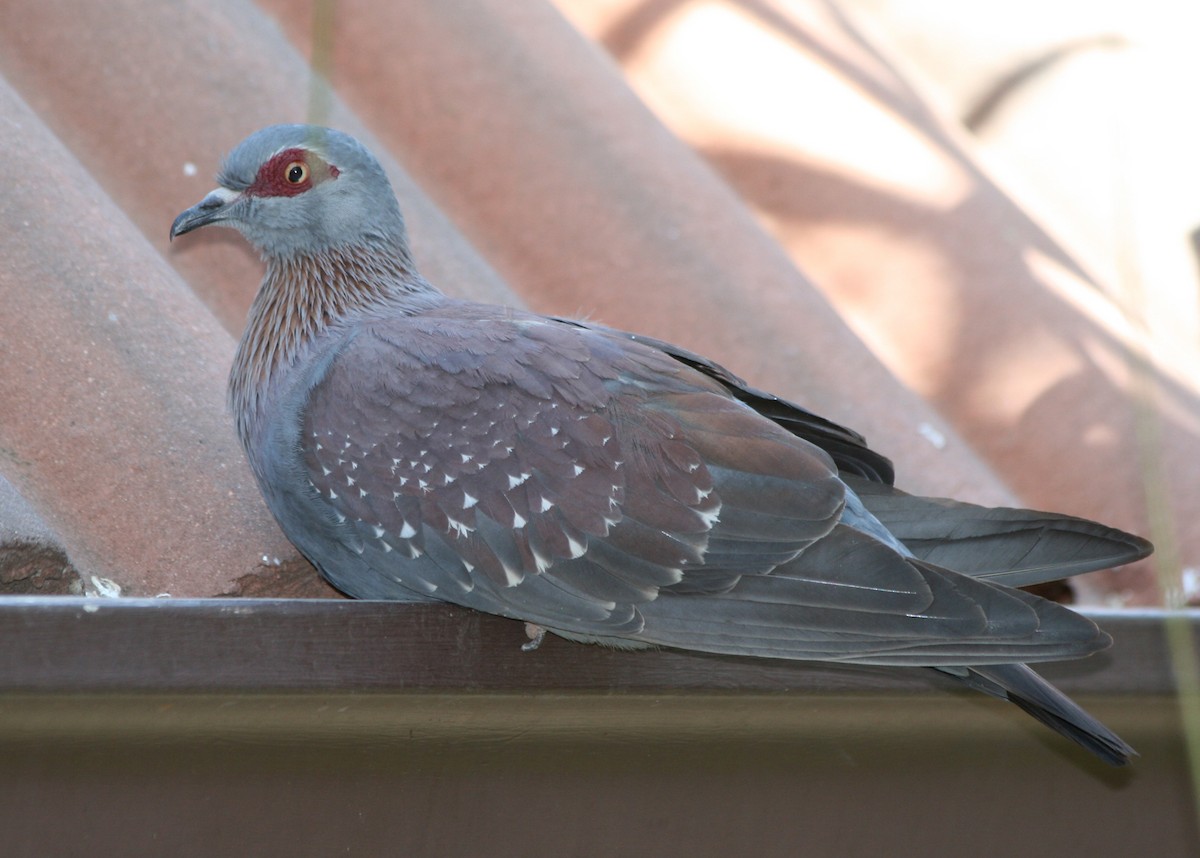
{"label": "narrow dark tail tip hanging below the gutter rim", "polygon": [[1138,754],[1026,665],[980,665],[965,670],[965,673],[956,670],[947,672],[978,691],[1012,701],[1110,766],[1124,766],[1130,756]]}

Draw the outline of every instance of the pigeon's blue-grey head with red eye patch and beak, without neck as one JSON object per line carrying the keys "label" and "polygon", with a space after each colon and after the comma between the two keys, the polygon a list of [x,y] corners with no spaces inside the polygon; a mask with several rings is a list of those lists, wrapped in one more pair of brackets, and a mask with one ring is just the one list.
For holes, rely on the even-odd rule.
{"label": "pigeon's blue-grey head with red eye patch and beak, without neck", "polygon": [[263,128],[226,157],[217,187],[184,211],[170,238],[218,223],[264,257],[406,246],[404,221],[379,162],[349,134],[312,125]]}

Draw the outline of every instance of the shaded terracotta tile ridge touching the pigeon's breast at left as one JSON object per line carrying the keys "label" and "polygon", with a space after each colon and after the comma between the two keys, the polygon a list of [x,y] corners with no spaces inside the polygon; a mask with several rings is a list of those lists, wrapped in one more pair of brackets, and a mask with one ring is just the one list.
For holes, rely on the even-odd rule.
{"label": "shaded terracotta tile ridge touching the pigeon's breast at left", "polygon": [[0,113],[6,475],[85,582],[233,589],[289,551],[222,414],[233,340],[6,85]]}

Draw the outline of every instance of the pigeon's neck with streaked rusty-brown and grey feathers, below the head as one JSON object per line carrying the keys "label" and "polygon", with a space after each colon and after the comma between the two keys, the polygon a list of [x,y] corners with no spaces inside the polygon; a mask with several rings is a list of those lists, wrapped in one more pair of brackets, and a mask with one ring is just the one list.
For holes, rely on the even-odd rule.
{"label": "pigeon's neck with streaked rusty-brown and grey feathers, below the head", "polygon": [[440,294],[416,274],[403,246],[386,253],[350,247],[265,259],[229,373],[229,406],[247,448],[271,382],[314,337],[373,307],[413,312]]}

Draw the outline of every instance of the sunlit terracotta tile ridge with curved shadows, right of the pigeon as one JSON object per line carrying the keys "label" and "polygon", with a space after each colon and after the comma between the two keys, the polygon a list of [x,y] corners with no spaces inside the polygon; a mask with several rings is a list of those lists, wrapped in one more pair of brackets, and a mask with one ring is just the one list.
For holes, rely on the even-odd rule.
{"label": "sunlit terracotta tile ridge with curved shadows, right of the pigeon", "polygon": [[[973,140],[901,74],[906,62],[845,11],[913,28],[902,20],[912,4],[557,5],[1022,503],[1153,529],[1164,562],[1196,568],[1200,343],[1139,330],[1106,298],[1120,289],[1004,193]],[[1072,24],[1090,26],[1084,18]],[[911,44],[922,43],[916,29]],[[937,30],[935,19],[925,31]],[[1055,112],[1066,125],[1084,109]],[[1025,145],[1055,163],[1052,139]],[[1062,149],[1060,162],[1072,157]],[[1195,304],[1194,278],[1190,292]],[[1156,522],[1147,481],[1163,506]],[[1148,563],[1105,588],[1158,598]]]}

